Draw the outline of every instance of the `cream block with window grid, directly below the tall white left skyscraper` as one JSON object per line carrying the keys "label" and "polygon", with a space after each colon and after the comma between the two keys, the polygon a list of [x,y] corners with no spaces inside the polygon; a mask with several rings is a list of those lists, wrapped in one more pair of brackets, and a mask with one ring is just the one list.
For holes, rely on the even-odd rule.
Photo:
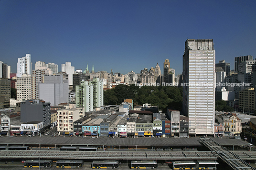
{"label": "cream block with window grid, directly below the tall white left skyscraper", "polygon": [[17,77],[16,81],[17,100],[30,100],[32,99],[32,76],[28,74],[22,74],[21,77]]}

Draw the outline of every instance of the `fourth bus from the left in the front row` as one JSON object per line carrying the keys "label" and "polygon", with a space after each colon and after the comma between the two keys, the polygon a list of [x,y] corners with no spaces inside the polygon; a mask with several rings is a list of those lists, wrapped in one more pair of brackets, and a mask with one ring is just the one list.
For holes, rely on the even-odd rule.
{"label": "fourth bus from the left in the front row", "polygon": [[131,169],[157,169],[157,161],[155,160],[132,160]]}

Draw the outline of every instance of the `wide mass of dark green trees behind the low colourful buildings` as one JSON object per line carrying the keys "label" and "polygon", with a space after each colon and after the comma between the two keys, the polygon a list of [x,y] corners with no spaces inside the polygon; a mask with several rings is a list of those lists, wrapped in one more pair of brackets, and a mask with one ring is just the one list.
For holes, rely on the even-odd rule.
{"label": "wide mass of dark green trees behind the low colourful buildings", "polygon": [[120,84],[115,89],[104,91],[104,105],[121,104],[124,99],[133,99],[135,105],[149,103],[158,106],[160,110],[168,105],[172,109],[181,110],[182,87],[142,86],[139,88],[135,85]]}

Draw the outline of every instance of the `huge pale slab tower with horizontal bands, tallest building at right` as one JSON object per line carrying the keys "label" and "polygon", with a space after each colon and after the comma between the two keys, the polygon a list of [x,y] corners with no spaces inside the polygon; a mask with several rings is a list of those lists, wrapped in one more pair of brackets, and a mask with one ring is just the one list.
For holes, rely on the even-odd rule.
{"label": "huge pale slab tower with horizontal bands, tallest building at right", "polygon": [[216,79],[212,39],[186,40],[182,74],[183,113],[189,116],[189,133],[213,135]]}

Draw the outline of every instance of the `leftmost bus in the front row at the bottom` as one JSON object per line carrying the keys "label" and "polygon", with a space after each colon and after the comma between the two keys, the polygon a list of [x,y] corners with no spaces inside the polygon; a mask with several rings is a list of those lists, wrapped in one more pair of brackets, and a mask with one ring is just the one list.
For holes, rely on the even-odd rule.
{"label": "leftmost bus in the front row at the bottom", "polygon": [[51,168],[53,160],[26,160],[24,168]]}

